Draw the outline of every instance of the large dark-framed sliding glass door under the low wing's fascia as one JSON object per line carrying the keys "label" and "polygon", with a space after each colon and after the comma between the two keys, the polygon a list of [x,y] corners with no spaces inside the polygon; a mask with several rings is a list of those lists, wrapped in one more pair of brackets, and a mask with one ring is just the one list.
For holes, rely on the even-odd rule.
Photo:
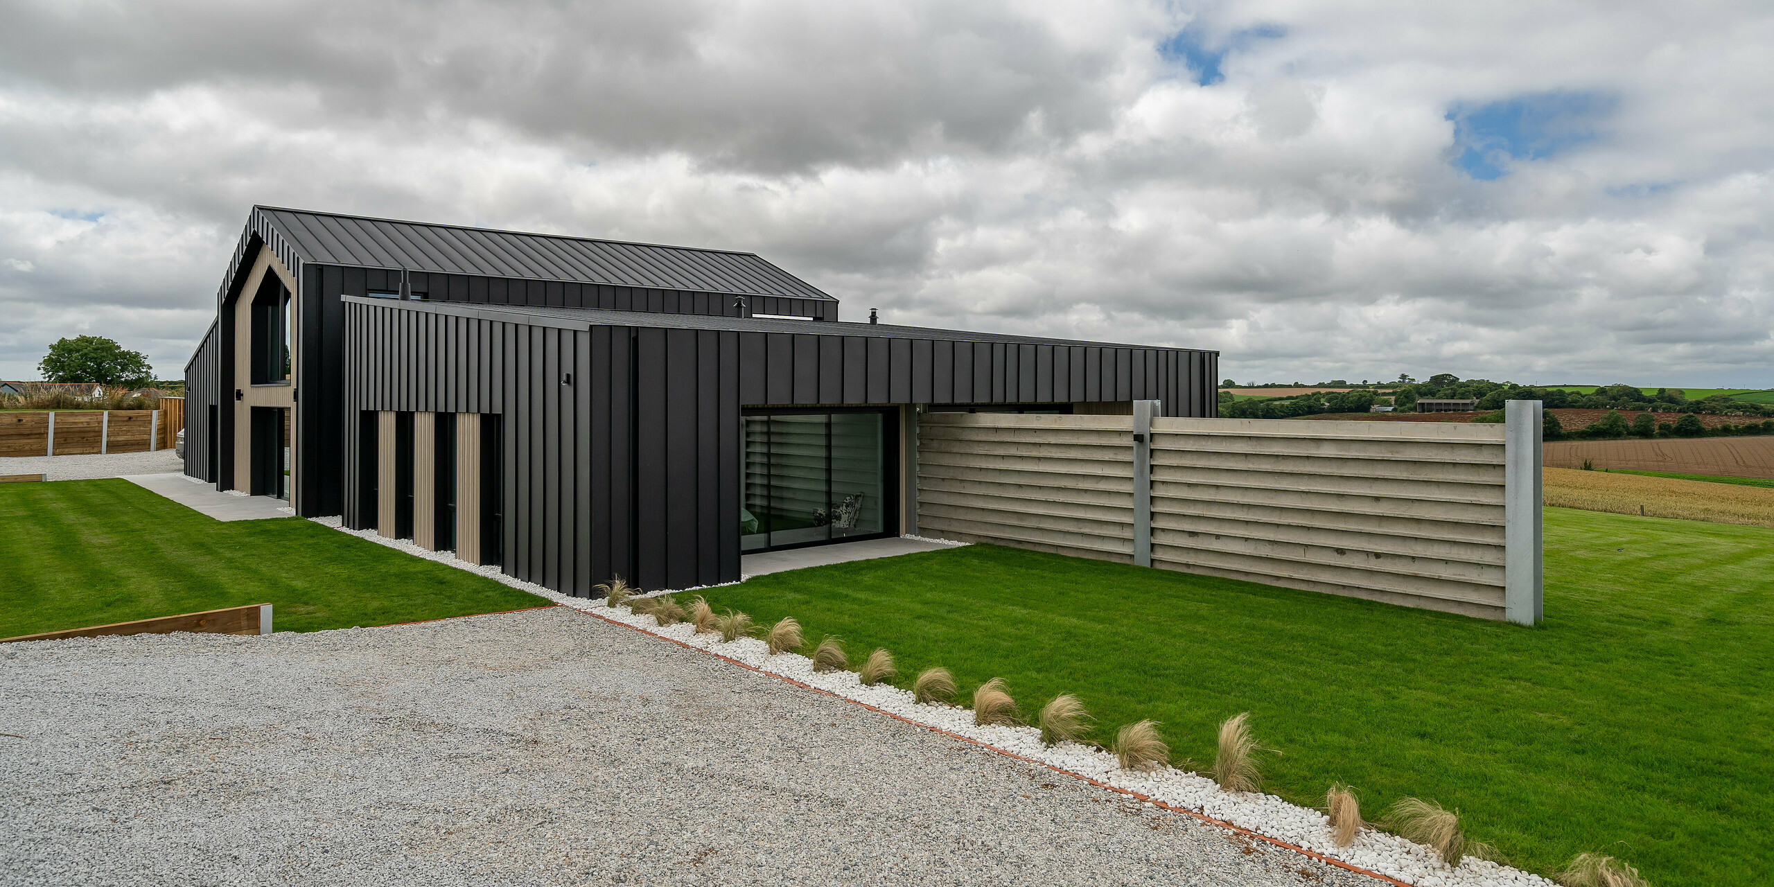
{"label": "large dark-framed sliding glass door under the low wing's fascia", "polygon": [[740,550],[894,534],[898,452],[892,419],[883,410],[743,415]]}

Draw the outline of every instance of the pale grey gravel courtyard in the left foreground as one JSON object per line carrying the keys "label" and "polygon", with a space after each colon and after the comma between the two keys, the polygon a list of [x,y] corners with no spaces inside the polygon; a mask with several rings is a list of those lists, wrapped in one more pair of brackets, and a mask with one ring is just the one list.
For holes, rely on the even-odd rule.
{"label": "pale grey gravel courtyard in the left foreground", "polygon": [[1377,883],[566,608],[7,644],[0,733],[0,883]]}

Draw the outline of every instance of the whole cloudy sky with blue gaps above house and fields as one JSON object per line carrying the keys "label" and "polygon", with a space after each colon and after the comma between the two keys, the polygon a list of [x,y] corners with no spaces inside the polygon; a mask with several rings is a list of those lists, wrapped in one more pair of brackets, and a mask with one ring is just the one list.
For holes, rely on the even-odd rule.
{"label": "whole cloudy sky with blue gaps above house and fields", "polygon": [[1774,5],[0,0],[0,378],[252,204],[754,250],[1240,381],[1774,387]]}

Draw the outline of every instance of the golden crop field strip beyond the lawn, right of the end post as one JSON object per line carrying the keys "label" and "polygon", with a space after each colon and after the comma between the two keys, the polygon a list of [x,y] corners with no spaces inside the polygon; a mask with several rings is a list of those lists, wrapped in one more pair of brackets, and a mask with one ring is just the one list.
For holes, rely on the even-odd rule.
{"label": "golden crop field strip beyond the lawn, right of the end post", "polygon": [[1543,468],[1542,472],[1547,506],[1774,527],[1774,490],[1763,486],[1575,468]]}

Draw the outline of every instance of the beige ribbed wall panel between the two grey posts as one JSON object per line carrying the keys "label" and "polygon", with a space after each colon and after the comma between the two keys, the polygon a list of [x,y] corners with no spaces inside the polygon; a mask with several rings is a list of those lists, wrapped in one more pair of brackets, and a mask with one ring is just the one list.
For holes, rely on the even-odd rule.
{"label": "beige ribbed wall panel between the two grey posts", "polygon": [[1153,420],[1153,566],[1504,617],[1503,426]]}

